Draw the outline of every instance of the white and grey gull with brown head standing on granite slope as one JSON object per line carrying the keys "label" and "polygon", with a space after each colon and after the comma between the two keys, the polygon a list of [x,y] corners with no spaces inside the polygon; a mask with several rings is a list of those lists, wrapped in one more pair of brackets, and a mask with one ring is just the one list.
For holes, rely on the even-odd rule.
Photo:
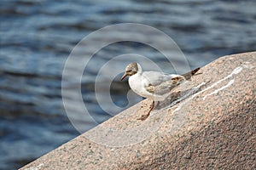
{"label": "white and grey gull with brown head standing on granite slope", "polygon": [[125,74],[121,77],[121,81],[125,77],[129,77],[129,86],[136,94],[153,100],[148,114],[143,115],[137,120],[144,121],[154,109],[154,101],[162,101],[170,94],[172,88],[177,87],[181,83],[189,80],[200,68],[189,71],[183,75],[165,74],[159,71],[143,71],[142,66],[138,63],[131,63],[126,66]]}

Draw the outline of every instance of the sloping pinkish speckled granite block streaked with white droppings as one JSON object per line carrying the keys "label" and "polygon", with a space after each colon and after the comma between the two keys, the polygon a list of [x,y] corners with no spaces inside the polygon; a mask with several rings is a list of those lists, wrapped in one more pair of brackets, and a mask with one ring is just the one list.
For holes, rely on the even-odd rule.
{"label": "sloping pinkish speckled granite block streaked with white droppings", "polygon": [[219,58],[174,90],[21,169],[256,169],[256,52]]}

